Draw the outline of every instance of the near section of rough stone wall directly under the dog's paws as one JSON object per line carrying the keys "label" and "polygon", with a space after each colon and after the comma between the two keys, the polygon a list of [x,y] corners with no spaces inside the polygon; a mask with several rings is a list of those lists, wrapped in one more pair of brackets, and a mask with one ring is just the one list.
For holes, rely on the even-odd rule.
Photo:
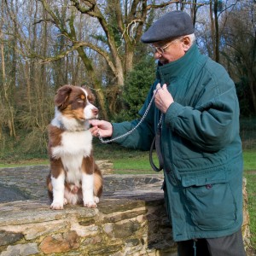
{"label": "near section of rough stone wall directly under the dog's paws", "polygon": [[49,210],[47,201],[4,203],[0,226],[1,256],[176,255],[163,201],[155,195],[63,211]]}

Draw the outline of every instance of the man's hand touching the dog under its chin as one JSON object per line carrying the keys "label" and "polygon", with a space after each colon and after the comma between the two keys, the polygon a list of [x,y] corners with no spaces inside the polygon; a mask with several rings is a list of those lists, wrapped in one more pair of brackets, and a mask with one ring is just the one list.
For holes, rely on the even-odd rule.
{"label": "man's hand touching the dog under its chin", "polygon": [[90,128],[90,132],[93,136],[112,137],[113,127],[109,122],[97,119],[92,119],[89,122],[90,125],[93,126]]}

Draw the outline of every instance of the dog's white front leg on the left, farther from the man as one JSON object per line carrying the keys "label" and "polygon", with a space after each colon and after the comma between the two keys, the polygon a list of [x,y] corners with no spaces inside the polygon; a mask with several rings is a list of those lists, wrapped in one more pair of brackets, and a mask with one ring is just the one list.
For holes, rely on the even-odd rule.
{"label": "dog's white front leg on the left, farther from the man", "polygon": [[61,210],[64,206],[64,172],[61,172],[61,174],[58,177],[51,176],[51,183],[53,187],[53,202],[50,205],[50,208],[54,210]]}

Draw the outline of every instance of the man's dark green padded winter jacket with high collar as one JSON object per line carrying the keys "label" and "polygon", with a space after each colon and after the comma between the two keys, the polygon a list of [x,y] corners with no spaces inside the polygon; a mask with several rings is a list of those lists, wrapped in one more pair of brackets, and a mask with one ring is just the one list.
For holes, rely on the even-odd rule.
{"label": "man's dark green padded winter jacket with high collar", "polygon": [[[158,66],[156,84],[168,84],[174,102],[163,117],[164,191],[174,241],[228,236],[242,224],[242,155],[236,88],[224,67],[196,44],[179,60]],[[160,111],[154,103],[141,125],[118,143],[148,150]],[[113,137],[139,120],[113,123]]]}

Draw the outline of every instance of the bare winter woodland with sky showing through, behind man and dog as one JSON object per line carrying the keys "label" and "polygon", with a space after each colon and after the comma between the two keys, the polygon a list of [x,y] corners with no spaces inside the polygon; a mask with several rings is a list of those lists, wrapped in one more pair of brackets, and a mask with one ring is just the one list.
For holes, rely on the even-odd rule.
{"label": "bare winter woodland with sky showing through, behind man and dog", "polygon": [[154,76],[140,37],[173,9],[190,12],[200,50],[228,69],[241,108],[256,113],[253,0],[6,0],[0,10],[1,147],[13,142],[22,152],[46,151],[62,84],[90,86],[101,119],[120,118],[123,108],[134,117]]}

